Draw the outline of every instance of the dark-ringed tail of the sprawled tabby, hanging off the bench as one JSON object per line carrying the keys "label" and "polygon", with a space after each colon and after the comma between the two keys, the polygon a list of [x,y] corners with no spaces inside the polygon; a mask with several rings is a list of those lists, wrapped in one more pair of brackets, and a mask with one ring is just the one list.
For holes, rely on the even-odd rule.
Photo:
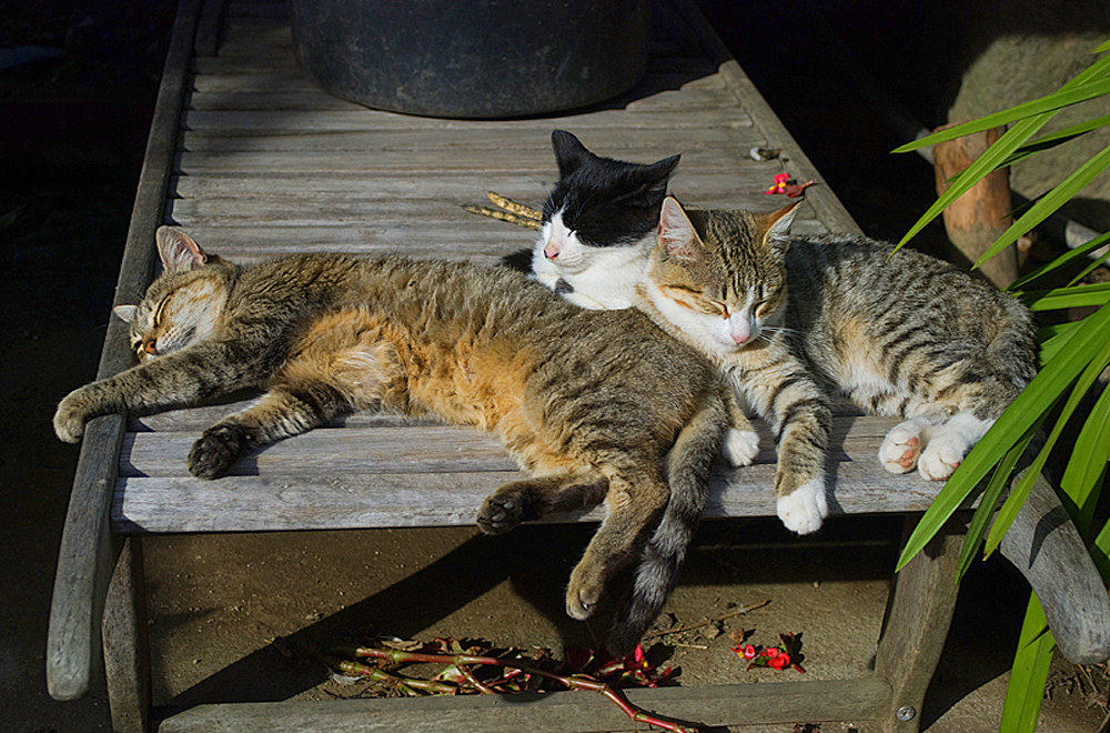
{"label": "dark-ringed tail of the sprawled tabby, hanging off the bench", "polygon": [[624,656],[636,649],[675,585],[686,548],[705,510],[709,468],[728,428],[724,389],[723,385],[720,391],[706,395],[702,408],[678,433],[667,453],[670,499],[644,548],[632,596],[609,633],[607,646],[615,656]]}

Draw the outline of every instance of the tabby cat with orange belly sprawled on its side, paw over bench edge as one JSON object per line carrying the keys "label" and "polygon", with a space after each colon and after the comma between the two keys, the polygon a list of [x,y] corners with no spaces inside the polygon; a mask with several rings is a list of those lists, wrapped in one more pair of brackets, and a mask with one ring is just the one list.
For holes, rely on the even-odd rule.
{"label": "tabby cat with orange belly sprawled on its side, paw over bench edge", "polygon": [[243,388],[266,391],[203,432],[194,475],[351,410],[492,431],[531,478],[491,494],[478,525],[497,534],[604,500],[566,609],[588,617],[614,573],[639,562],[608,641],[616,654],[635,646],[700,518],[734,401],[696,351],[642,313],[583,310],[507,269],[341,255],[236,267],[167,227],[158,250],[164,273],[118,309],[141,363],[63,399],[59,438],[79,440],[98,415]]}

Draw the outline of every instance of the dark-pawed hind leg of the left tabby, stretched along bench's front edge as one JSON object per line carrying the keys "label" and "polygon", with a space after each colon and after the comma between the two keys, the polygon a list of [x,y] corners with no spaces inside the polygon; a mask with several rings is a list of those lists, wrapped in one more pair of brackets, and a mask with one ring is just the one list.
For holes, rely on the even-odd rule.
{"label": "dark-pawed hind leg of the left tabby, stretched along bench's front edge", "polygon": [[593,506],[605,499],[608,488],[608,480],[593,469],[513,481],[486,496],[478,510],[478,529],[504,534],[521,522]]}

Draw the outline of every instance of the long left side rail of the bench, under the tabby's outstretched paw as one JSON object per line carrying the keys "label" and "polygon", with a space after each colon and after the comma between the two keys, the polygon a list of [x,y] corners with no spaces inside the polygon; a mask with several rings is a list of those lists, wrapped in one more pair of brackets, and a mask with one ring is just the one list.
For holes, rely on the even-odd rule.
{"label": "long left side rail of the bench, under the tabby's outstretched paw", "polygon": [[[143,290],[150,281],[151,242],[161,223],[162,201],[169,185],[174,131],[199,10],[196,0],[183,0],[173,23],[120,267],[117,303],[127,294]],[[114,319],[108,327],[98,378],[124,369],[130,361],[127,325]],[[47,687],[56,700],[83,695],[93,667],[99,665],[101,617],[115,561],[109,535],[108,489],[114,483],[122,436],[123,420],[109,415],[89,423],[81,445],[62,529],[47,632]]]}

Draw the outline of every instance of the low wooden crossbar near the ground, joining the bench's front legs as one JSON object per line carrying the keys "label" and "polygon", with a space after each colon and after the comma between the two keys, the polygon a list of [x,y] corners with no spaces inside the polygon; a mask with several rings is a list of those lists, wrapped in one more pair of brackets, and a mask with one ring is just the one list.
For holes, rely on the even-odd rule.
{"label": "low wooden crossbar near the ground, joining the bench's front legs", "polygon": [[[775,682],[627,690],[628,700],[659,715],[700,726],[798,721],[872,720],[890,691],[875,677],[848,681]],[[586,692],[546,695],[466,695],[340,700],[326,703],[200,705],[162,722],[159,733],[592,733],[642,726],[616,705]],[[776,729],[777,730],[777,729]]]}

